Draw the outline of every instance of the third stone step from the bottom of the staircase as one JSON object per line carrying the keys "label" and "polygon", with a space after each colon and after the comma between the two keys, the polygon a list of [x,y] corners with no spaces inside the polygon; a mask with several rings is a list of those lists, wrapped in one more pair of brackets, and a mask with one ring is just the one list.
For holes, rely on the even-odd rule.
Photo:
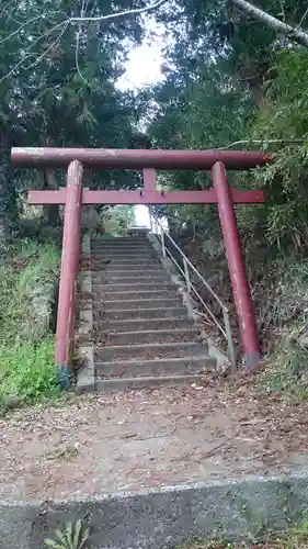
{"label": "third stone step from the bottom of the staircase", "polygon": [[139,358],[142,360],[159,358],[204,357],[207,345],[197,341],[122,345],[114,347],[95,347],[98,361],[113,361]]}

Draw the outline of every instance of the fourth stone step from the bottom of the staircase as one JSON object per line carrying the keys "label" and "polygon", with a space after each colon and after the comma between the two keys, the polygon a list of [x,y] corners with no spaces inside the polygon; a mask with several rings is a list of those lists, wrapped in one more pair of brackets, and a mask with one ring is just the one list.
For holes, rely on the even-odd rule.
{"label": "fourth stone step from the bottom of the staircase", "polygon": [[[123,346],[135,344],[164,344],[180,341],[198,341],[199,329],[197,328],[170,328],[170,329],[144,329],[137,332],[102,333],[102,338],[109,346]],[[95,334],[95,339],[100,341],[100,332]]]}

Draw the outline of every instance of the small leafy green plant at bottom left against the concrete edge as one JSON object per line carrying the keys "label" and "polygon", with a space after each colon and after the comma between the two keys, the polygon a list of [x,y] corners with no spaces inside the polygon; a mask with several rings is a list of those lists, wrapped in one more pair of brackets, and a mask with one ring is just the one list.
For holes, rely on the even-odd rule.
{"label": "small leafy green plant at bottom left against the concrete edge", "polygon": [[82,549],[89,538],[90,529],[87,528],[82,520],[68,523],[61,530],[55,531],[56,541],[45,539],[45,546],[54,549]]}

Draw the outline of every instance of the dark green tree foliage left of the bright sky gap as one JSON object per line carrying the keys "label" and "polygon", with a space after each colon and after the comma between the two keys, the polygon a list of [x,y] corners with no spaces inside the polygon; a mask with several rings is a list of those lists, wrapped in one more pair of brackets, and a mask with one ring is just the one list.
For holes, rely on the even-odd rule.
{"label": "dark green tree foliage left of the bright sky gap", "polygon": [[[137,0],[134,8],[142,7]],[[135,100],[119,91],[126,53],[142,37],[136,16],[109,23],[69,18],[129,9],[128,0],[0,2],[0,214],[15,217],[20,192],[64,183],[62,171],[12,169],[12,146],[129,147],[136,131]],[[52,178],[49,177],[52,175]],[[134,187],[135,172],[87,175],[92,188]]]}

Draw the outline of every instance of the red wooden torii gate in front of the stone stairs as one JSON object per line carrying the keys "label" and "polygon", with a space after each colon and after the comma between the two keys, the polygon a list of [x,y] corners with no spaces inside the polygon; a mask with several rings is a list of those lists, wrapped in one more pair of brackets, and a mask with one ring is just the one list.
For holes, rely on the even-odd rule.
{"label": "red wooden torii gate in front of the stone stairs", "polygon": [[[76,321],[76,284],[79,270],[82,204],[218,204],[219,219],[237,307],[247,369],[260,361],[254,310],[247,279],[235,214],[235,203],[265,201],[263,191],[241,191],[228,183],[226,169],[244,170],[273,160],[258,152],[138,150],[103,148],[13,148],[12,164],[24,168],[67,168],[67,187],[30,191],[30,204],[65,204],[61,276],[59,288],[56,363],[65,384],[72,370]],[[144,170],[144,189],[91,191],[82,188],[83,167]],[[199,191],[159,191],[156,169],[210,170],[214,187]]]}

